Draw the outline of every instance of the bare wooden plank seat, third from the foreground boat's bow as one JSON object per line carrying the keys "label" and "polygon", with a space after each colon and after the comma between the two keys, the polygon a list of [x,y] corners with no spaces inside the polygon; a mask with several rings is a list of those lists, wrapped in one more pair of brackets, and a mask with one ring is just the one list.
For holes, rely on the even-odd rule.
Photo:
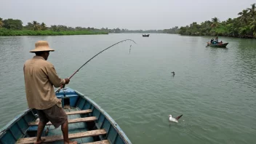
{"label": "bare wooden plank seat, third from the foreground boat's bow", "polygon": [[[76,138],[81,138],[81,137],[92,137],[92,136],[105,135],[105,134],[107,134],[105,129],[97,129],[97,130],[92,130],[92,131],[87,131],[87,132],[78,132],[78,133],[68,134],[68,138],[76,139]],[[63,135],[41,137],[41,139],[45,140],[44,143],[50,143],[50,142],[63,140]],[[20,138],[19,140],[17,140],[16,143],[25,144],[25,143],[34,143],[34,142],[36,142],[36,137],[25,137],[25,138]]]}

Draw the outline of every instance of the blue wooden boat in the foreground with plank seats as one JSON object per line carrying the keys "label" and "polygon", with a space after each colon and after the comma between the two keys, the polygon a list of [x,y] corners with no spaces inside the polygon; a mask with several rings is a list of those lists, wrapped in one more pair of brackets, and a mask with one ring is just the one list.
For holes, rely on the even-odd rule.
{"label": "blue wooden boat in the foreground with plank seats", "polygon": [[[62,100],[68,115],[68,132],[71,140],[89,144],[131,143],[118,124],[100,108],[97,103],[70,88],[56,94]],[[39,118],[34,109],[28,109],[16,116],[0,132],[0,143],[34,143]],[[60,127],[54,129],[51,123],[44,128],[44,143],[63,143]]]}

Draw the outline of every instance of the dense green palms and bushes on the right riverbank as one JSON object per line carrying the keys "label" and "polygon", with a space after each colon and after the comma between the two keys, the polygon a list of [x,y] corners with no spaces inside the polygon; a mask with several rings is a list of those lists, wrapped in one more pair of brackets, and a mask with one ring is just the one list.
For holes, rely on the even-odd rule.
{"label": "dense green palms and bushes on the right riverbank", "polygon": [[232,36],[239,38],[256,38],[256,7],[252,4],[250,8],[238,13],[237,18],[228,18],[223,22],[217,17],[207,20],[201,24],[196,22],[185,27],[180,27],[181,35],[191,36]]}

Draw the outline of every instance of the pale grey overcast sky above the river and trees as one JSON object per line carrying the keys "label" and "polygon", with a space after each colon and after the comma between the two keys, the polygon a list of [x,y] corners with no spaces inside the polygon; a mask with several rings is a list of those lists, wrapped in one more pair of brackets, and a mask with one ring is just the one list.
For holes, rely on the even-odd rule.
{"label": "pale grey overcast sky above the river and trees", "polygon": [[237,17],[255,0],[0,0],[0,17],[50,25],[165,29]]}

